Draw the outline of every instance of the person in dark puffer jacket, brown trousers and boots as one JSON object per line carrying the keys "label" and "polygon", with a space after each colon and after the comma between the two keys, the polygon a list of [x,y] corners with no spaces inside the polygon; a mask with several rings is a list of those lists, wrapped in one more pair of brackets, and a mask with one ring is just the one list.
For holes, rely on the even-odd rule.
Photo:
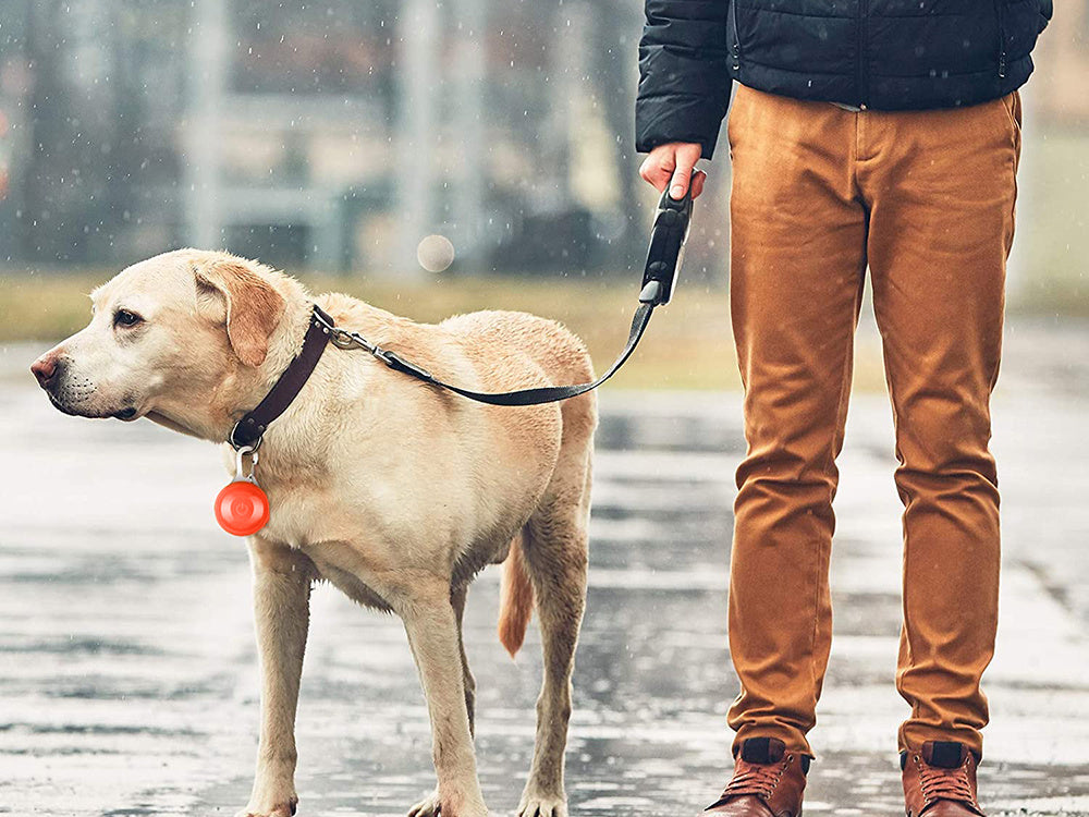
{"label": "person in dark puffer jacket, brown trousers and boots", "polygon": [[1020,150],[1051,0],[647,0],[640,174],[674,197],[730,100],[730,295],[745,388],[729,714],[709,807],[796,817],[831,646],[829,553],[867,267],[905,505],[896,686],[907,814],[980,815],[998,618],[988,451]]}

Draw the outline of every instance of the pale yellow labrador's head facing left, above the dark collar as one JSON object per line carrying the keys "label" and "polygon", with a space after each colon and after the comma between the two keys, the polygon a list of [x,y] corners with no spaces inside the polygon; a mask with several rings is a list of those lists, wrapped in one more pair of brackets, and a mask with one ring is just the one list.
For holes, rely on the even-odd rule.
{"label": "pale yellow labrador's head facing left, above the dark collar", "polygon": [[158,255],[95,290],[90,324],[30,370],[66,414],[149,415],[199,436],[210,427],[219,434],[232,400],[259,379],[287,280],[225,253]]}

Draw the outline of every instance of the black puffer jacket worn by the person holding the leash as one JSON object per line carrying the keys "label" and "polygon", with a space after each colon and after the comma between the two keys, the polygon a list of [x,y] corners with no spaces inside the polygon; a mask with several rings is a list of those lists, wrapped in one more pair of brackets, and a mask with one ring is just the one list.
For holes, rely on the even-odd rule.
{"label": "black puffer jacket worn by the person holding the leash", "polygon": [[876,110],[975,105],[1020,87],[1052,0],[647,0],[636,146],[710,158],[731,78]]}

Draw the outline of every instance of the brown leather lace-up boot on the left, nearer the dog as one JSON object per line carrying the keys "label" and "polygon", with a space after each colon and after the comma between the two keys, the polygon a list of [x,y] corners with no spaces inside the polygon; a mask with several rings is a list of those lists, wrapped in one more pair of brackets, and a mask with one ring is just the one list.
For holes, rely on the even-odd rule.
{"label": "brown leather lace-up boot on the left, nearer the dog", "polygon": [[798,817],[809,757],[778,737],[749,737],[734,760],[734,777],[705,810],[729,817]]}

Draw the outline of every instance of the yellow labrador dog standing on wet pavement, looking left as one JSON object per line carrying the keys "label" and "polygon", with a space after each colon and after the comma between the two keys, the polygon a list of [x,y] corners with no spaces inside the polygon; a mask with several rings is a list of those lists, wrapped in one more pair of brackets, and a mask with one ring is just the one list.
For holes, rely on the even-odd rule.
{"label": "yellow labrador dog standing on wet pavement, looking left", "polygon": [[[90,324],[33,366],[53,404],[83,417],[148,417],[213,442],[227,439],[299,352],[315,302],[339,327],[466,388],[592,377],[583,344],[552,321],[481,312],[416,324],[345,295],[315,298],[294,279],[225,253],[156,256],[91,300]],[[564,747],[586,597],[596,424],[592,393],[493,407],[391,371],[364,352],[326,349],[260,450],[257,476],[272,509],[248,539],[260,746],[240,815],[295,812],[295,706],[315,580],[404,622],[438,778],[412,817],[486,814],[461,622],[469,581],[500,562],[500,638],[513,655],[536,605],[544,654],[519,814],[566,814]]]}

